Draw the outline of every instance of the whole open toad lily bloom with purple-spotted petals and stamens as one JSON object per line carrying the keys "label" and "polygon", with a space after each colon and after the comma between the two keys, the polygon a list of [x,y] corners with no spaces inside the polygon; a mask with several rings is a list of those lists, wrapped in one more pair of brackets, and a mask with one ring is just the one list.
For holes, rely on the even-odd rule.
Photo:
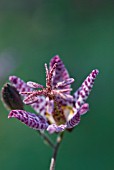
{"label": "whole open toad lily bloom with purple-spotted petals and stamens", "polygon": [[69,77],[58,55],[51,59],[49,69],[45,64],[45,69],[46,87],[32,81],[25,83],[16,76],[9,77],[12,85],[23,96],[24,103],[31,105],[37,114],[12,110],[8,118],[17,118],[35,130],[47,130],[49,133],[72,129],[79,124],[81,115],[89,110],[89,104],[85,101],[99,71],[93,70],[71,95],[70,86],[74,79]]}

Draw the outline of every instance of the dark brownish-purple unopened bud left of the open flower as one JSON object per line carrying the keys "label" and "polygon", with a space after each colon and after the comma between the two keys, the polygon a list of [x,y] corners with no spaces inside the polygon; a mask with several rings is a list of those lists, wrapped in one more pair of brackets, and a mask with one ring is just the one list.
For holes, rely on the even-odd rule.
{"label": "dark brownish-purple unopened bud left of the open flower", "polygon": [[6,83],[2,88],[2,101],[10,110],[23,110],[23,102],[17,89],[9,83]]}

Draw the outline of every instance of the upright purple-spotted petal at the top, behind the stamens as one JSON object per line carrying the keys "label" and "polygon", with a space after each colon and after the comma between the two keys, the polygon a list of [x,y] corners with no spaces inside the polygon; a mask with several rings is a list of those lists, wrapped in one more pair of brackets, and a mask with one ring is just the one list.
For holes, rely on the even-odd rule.
{"label": "upright purple-spotted petal at the top, behind the stamens", "polygon": [[[57,63],[55,74],[53,76],[53,82],[52,85],[55,86],[58,82],[62,82],[69,78],[68,71],[66,70],[63,62],[59,58],[58,55],[53,57],[50,61],[50,69],[53,67],[53,65]],[[70,85],[67,85],[66,88],[70,88]]]}

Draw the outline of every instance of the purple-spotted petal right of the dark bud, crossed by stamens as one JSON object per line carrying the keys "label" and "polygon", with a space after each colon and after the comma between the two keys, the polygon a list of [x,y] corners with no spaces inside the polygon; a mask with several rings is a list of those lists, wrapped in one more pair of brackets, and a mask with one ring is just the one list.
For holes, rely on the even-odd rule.
{"label": "purple-spotted petal right of the dark bud, crossed by stamens", "polygon": [[[9,77],[10,82],[15,86],[15,88],[18,90],[18,92],[31,92],[33,91],[32,88],[30,88],[27,83],[25,83],[23,80],[16,76],[10,76]],[[24,98],[27,96],[26,94],[21,94]],[[38,96],[37,103],[31,104],[32,108],[39,114],[44,115],[45,114],[45,105],[46,100],[43,96]]]}

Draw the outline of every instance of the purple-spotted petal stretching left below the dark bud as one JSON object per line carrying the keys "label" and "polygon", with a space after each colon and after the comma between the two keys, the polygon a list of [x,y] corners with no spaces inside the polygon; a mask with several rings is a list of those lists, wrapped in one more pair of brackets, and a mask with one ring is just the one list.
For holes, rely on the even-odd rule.
{"label": "purple-spotted petal stretching left below the dark bud", "polygon": [[8,118],[13,117],[35,130],[45,130],[48,127],[47,120],[44,117],[24,110],[12,110]]}

